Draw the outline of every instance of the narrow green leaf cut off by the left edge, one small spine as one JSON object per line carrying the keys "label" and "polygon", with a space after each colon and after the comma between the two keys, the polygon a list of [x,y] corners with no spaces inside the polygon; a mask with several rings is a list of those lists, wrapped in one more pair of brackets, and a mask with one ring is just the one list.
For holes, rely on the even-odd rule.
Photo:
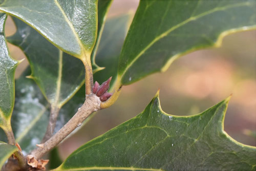
{"label": "narrow green leaf cut off by the left edge, one small spine", "polygon": [[11,130],[14,106],[14,73],[18,62],[9,56],[4,34],[6,14],[0,13],[0,127]]}

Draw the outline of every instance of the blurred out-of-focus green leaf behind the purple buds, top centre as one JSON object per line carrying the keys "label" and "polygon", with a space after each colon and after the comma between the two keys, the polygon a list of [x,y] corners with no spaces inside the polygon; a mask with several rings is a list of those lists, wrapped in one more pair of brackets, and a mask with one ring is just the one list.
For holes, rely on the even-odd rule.
{"label": "blurred out-of-focus green leaf behind the purple buds, top centre", "polygon": [[102,83],[113,76],[111,86],[117,77],[118,57],[121,52],[122,44],[129,27],[130,14],[117,16],[106,20],[98,52],[96,63],[105,67],[104,70],[94,74],[94,80]]}

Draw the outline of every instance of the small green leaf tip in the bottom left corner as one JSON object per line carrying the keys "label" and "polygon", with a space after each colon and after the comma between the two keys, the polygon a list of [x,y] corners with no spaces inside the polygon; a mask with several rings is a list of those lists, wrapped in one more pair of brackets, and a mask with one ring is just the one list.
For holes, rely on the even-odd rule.
{"label": "small green leaf tip in the bottom left corner", "polygon": [[0,141],[0,169],[5,161],[17,150],[18,148],[16,146]]}

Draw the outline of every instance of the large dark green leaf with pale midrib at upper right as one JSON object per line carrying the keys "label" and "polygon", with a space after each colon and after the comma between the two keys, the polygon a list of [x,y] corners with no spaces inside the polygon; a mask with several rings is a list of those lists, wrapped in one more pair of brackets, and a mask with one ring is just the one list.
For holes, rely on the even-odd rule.
{"label": "large dark green leaf with pale midrib at upper right", "polygon": [[140,1],[119,59],[120,84],[163,72],[185,53],[218,47],[225,35],[255,28],[255,0]]}

